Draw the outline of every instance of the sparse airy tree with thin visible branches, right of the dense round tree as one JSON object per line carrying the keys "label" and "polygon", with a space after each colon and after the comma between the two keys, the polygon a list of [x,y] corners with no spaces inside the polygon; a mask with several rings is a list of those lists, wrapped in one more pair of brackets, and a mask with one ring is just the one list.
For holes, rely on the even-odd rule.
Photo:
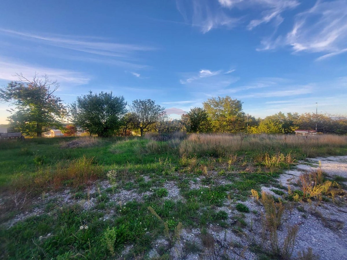
{"label": "sparse airy tree with thin visible branches, right of the dense round tree", "polygon": [[166,118],[165,108],[156,105],[151,99],[136,99],[130,106],[132,122],[135,128],[140,129],[141,136],[145,132],[155,130],[155,123]]}

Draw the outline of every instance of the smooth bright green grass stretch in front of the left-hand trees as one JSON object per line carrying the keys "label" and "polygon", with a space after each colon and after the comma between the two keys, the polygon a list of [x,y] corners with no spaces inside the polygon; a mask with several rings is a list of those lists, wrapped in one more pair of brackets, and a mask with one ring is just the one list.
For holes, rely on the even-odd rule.
{"label": "smooth bright green grass stretch in front of the left-hand trees", "polygon": [[[147,139],[121,138],[100,139],[96,146],[83,148],[61,148],[62,142],[75,138],[33,138],[25,141],[0,142],[0,187],[6,189],[21,175],[31,175],[41,169],[66,164],[79,158],[93,158],[93,162],[106,173],[119,169],[127,177],[138,173],[163,172],[166,161],[178,161],[175,153],[144,154],[142,149]],[[112,150],[118,153],[112,153]],[[126,176],[130,175],[130,176]]]}

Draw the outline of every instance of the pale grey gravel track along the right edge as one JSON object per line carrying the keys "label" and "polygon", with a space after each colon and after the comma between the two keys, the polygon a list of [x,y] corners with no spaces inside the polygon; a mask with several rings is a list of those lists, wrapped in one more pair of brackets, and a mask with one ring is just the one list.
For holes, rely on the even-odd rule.
{"label": "pale grey gravel track along the right edge", "polygon": [[[322,171],[328,176],[347,177],[347,156],[330,156],[308,159],[308,162],[301,161],[294,170],[282,174],[278,181],[285,187],[296,183],[301,173],[316,170],[319,162],[321,162]],[[262,187],[264,191],[268,191],[268,189]],[[256,209],[253,201],[248,201],[247,205],[250,209]],[[320,255],[321,259],[347,259],[346,203],[343,207],[325,202],[318,207],[310,206],[308,203],[301,203],[299,206],[303,209],[298,211],[297,208],[294,208],[284,223],[284,225],[299,225],[293,256],[297,256],[299,250],[310,246],[314,253]],[[259,228],[255,226],[255,229]],[[279,234],[283,240],[286,235],[285,230],[280,231]]]}

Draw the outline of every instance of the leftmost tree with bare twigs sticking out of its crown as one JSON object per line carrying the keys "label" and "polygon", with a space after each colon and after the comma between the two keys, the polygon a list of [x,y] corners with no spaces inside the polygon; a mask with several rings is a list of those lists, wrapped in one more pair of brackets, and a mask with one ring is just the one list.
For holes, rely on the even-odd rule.
{"label": "leftmost tree with bare twigs sticking out of its crown", "polygon": [[19,81],[11,81],[6,88],[0,89],[0,100],[16,105],[16,109],[9,110],[11,128],[41,137],[45,128],[61,125],[66,107],[53,95],[59,88],[57,81],[50,81],[47,75],[40,79],[35,74],[32,80],[23,74],[17,76]]}

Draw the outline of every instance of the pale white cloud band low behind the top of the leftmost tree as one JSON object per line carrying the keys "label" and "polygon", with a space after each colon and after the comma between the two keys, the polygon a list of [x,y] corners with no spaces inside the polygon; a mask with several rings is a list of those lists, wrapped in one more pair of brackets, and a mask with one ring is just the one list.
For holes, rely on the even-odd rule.
{"label": "pale white cloud band low behind the top of the leftmost tree", "polygon": [[26,77],[32,77],[35,72],[39,73],[39,76],[47,74],[50,79],[57,80],[60,83],[82,85],[87,84],[91,79],[90,76],[77,71],[36,66],[25,62],[11,61],[6,57],[0,57],[0,79],[15,81],[18,80],[18,77],[14,76],[16,73],[23,73]]}

